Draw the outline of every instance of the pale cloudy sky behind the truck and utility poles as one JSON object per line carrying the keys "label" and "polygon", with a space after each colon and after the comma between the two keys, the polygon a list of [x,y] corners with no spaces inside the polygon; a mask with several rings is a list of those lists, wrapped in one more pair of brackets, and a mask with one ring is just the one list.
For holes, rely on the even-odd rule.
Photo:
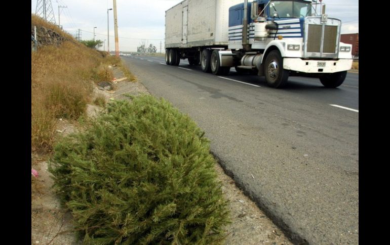
{"label": "pale cloudy sky behind the truck and utility poles", "polygon": [[[50,0],[46,0],[50,1]],[[113,7],[112,0],[51,0],[56,23],[60,10],[60,24],[63,29],[75,35],[81,29],[83,40],[103,41],[107,49],[107,9]],[[153,44],[160,52],[164,50],[165,11],[182,0],[116,0],[118,15],[119,49],[123,52],[135,52],[137,46]],[[244,0],[243,0],[244,2]],[[252,2],[252,0],[248,0]],[[319,2],[319,1],[318,1]],[[31,0],[31,13],[35,13],[37,0]],[[341,34],[359,33],[359,0],[323,0],[328,17],[342,21]],[[58,8],[66,6],[67,8]],[[320,6],[317,8],[319,12]],[[109,45],[115,50],[113,11],[109,14]],[[96,27],[96,28],[94,28]],[[105,41],[104,41],[105,40]]]}

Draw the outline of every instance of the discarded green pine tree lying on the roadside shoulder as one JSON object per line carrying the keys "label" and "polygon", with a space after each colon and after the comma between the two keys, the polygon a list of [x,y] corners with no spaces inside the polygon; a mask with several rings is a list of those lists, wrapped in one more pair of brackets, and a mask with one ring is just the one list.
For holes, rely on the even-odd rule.
{"label": "discarded green pine tree lying on the roadside shoulder", "polygon": [[204,132],[152,96],[107,107],[50,166],[85,244],[220,243],[229,216]]}

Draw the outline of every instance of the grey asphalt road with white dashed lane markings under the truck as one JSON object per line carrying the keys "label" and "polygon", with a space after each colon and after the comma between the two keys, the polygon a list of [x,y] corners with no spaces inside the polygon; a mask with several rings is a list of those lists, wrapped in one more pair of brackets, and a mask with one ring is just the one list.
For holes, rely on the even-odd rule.
{"label": "grey asphalt road with white dashed lane markings under the truck", "polygon": [[235,69],[122,58],[205,130],[225,171],[294,243],[359,243],[359,74],[334,89],[304,77],[274,89]]}

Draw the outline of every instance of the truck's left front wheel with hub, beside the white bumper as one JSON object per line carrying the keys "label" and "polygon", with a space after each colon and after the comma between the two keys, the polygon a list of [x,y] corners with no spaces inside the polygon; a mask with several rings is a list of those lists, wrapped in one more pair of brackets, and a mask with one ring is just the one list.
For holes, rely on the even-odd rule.
{"label": "truck's left front wheel with hub, beside the white bumper", "polygon": [[283,69],[283,59],[279,51],[271,51],[265,58],[264,75],[270,87],[280,88],[286,85],[289,72]]}

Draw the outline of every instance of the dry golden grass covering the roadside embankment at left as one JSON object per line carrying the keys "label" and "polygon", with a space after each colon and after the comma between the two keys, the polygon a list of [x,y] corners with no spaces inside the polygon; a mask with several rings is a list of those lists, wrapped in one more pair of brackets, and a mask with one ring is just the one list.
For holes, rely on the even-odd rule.
{"label": "dry golden grass covering the roadside embankment at left", "polygon": [[54,143],[57,119],[83,116],[92,100],[93,82],[113,79],[108,65],[122,66],[130,80],[135,78],[119,58],[87,48],[57,26],[34,15],[31,25],[37,32],[45,27],[68,39],[31,52],[31,146],[32,151],[48,152]]}

